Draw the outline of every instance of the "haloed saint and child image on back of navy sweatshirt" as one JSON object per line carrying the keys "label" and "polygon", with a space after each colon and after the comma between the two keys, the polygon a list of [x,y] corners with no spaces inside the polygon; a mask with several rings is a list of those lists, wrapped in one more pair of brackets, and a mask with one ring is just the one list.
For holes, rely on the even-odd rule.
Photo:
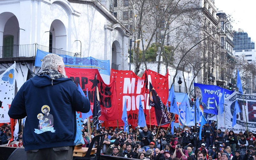
{"label": "haloed saint and child image on back of navy sweatshirt", "polygon": [[47,131],[55,132],[53,128],[53,116],[52,114],[50,114],[50,107],[47,105],[44,105],[41,108],[41,110],[44,113],[44,115],[42,113],[39,113],[37,115],[37,119],[39,119],[39,124],[38,124],[38,129],[35,129],[34,132],[36,134],[41,134]]}

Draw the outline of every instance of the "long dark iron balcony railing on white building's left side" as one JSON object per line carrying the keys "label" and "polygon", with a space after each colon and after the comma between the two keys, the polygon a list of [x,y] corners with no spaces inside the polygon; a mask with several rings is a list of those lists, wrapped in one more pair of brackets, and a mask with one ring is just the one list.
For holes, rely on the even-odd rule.
{"label": "long dark iron balcony railing on white building's left side", "polygon": [[0,58],[17,58],[17,57],[36,57],[36,50],[42,50],[44,52],[51,52],[54,54],[62,54],[73,57],[81,57],[81,54],[63,51],[52,47],[47,47],[39,44],[23,44],[23,45],[11,45],[0,46]]}

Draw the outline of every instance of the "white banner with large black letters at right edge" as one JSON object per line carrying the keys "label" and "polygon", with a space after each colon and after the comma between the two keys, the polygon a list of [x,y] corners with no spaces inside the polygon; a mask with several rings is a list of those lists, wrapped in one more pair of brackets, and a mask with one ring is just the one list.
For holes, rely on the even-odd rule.
{"label": "white banner with large black letters at right edge", "polygon": [[[244,97],[244,99],[243,99]],[[236,125],[232,127],[233,113],[236,104],[236,100],[239,104],[240,113],[236,114]],[[256,133],[256,94],[244,94],[239,92],[232,93],[228,98],[224,100],[225,106],[225,119],[224,114],[218,116],[218,128],[221,131],[234,131],[235,133],[245,132],[248,126],[248,130],[252,133]],[[246,124],[247,118],[247,124]],[[225,123],[224,123],[225,122]],[[226,124],[226,125],[225,125]]]}

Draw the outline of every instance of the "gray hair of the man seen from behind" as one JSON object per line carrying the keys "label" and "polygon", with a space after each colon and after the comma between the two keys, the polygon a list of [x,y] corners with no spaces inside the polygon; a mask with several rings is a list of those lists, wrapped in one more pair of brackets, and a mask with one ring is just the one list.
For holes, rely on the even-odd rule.
{"label": "gray hair of the man seen from behind", "polygon": [[58,56],[57,54],[47,54],[44,56],[41,64],[42,70],[45,69],[53,69],[58,70],[58,66],[63,67],[63,58]]}

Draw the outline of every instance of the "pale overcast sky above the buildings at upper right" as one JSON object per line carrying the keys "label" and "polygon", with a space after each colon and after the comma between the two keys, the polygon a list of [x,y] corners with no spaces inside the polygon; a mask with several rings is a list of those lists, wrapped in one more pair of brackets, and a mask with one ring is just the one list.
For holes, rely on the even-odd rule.
{"label": "pale overcast sky above the buildings at upper right", "polygon": [[242,28],[254,42],[256,41],[256,0],[215,0],[215,6],[219,11],[231,15],[234,20],[233,30]]}

